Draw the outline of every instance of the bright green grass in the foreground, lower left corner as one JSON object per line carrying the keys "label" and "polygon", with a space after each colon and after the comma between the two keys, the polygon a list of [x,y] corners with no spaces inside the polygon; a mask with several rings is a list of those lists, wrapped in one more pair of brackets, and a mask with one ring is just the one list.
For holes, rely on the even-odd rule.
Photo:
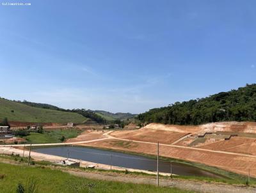
{"label": "bright green grass in the foreground, lower left corner", "polygon": [[[17,184],[26,184],[29,179],[36,181],[38,192],[170,192],[188,193],[189,191],[157,188],[152,185],[136,185],[115,181],[89,180],[63,173],[56,169],[42,167],[13,166],[0,163],[0,192],[15,192]],[[94,185],[90,191],[88,185]]]}

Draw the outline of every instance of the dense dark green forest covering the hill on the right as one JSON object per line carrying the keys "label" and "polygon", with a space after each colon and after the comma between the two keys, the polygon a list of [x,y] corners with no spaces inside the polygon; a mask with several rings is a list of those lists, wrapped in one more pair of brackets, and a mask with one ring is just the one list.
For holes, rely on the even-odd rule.
{"label": "dense dark green forest covering the hill on the right", "polygon": [[138,120],[148,123],[200,125],[216,121],[256,121],[256,84],[206,98],[150,109]]}

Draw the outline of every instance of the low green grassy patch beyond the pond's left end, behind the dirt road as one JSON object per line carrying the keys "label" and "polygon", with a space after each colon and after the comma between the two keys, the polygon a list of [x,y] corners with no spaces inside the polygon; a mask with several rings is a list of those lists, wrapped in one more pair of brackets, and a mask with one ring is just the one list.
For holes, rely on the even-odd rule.
{"label": "low green grassy patch beyond the pond's left end, behind the dirt road", "polygon": [[52,130],[45,131],[44,134],[30,133],[30,135],[24,137],[29,143],[61,143],[61,136],[65,136],[66,139],[74,138],[81,134],[80,130],[68,129],[68,130]]}

